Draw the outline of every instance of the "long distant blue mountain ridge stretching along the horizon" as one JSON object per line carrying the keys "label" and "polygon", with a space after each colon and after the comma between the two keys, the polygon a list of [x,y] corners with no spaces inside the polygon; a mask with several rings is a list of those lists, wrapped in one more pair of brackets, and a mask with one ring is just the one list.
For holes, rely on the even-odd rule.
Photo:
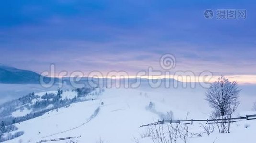
{"label": "long distant blue mountain ridge stretching along the horizon", "polygon": [[[17,69],[10,66],[5,66],[0,64],[0,83],[4,84],[40,84],[40,74],[29,71],[29,70],[22,70]],[[88,77],[81,77],[79,81],[74,82],[74,79],[76,78],[70,78],[70,77],[63,77],[63,78],[54,78],[54,77],[46,77],[44,76],[44,82],[48,83],[51,80],[54,80],[55,83],[63,82],[67,85],[72,85],[72,83],[79,83],[83,84],[84,86],[89,86],[89,80],[92,80],[93,83],[96,83],[95,87],[99,86],[99,79],[97,78],[88,78]],[[126,78],[126,79],[118,79],[117,81],[109,78],[102,78],[100,79],[103,87],[107,87],[109,85],[116,85],[117,82],[119,82],[122,86],[127,82],[129,86],[133,83],[139,83],[138,86],[148,85],[150,82],[150,79],[147,78]],[[154,82],[156,80],[153,80]],[[152,80],[151,80],[152,82]],[[178,83],[181,84],[182,82],[177,81],[175,79],[161,79],[162,85],[165,84],[165,82],[169,82],[169,84]]]}

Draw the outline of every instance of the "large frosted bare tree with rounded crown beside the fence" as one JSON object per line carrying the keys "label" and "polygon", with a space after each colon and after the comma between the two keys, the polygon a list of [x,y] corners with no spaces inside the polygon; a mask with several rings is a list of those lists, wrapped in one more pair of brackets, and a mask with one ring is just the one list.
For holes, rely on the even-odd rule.
{"label": "large frosted bare tree with rounded crown beside the fence", "polygon": [[216,122],[220,133],[229,132],[231,115],[239,105],[239,92],[237,82],[230,82],[223,76],[212,83],[206,92],[206,100],[209,106],[214,109],[212,118],[222,119],[221,122]]}

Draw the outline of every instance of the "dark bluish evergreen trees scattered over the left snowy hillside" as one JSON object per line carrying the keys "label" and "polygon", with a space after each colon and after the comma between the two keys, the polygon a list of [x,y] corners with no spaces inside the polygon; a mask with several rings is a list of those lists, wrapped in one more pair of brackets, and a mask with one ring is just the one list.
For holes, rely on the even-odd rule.
{"label": "dark bluish evergreen trees scattered over the left snowy hillside", "polygon": [[[73,99],[63,99],[62,98],[63,90],[60,90],[60,89],[58,90],[57,94],[46,93],[41,97],[38,95],[35,95],[35,93],[30,93],[17,100],[12,100],[10,102],[6,102],[0,105],[0,120],[5,121],[6,125],[23,122],[25,120],[29,120],[29,119],[41,116],[50,110],[54,110],[60,107],[65,107],[74,102],[81,102],[84,99],[81,99],[80,97],[85,97],[93,90],[95,90],[95,88],[75,89],[73,91],[77,92],[77,96],[75,96]],[[39,98],[41,98],[41,100],[38,100]],[[37,101],[32,102],[33,99],[36,99]],[[52,106],[48,108],[49,105],[52,105]],[[22,117],[11,116],[12,112],[15,112],[16,110],[23,110],[25,108],[28,110],[32,110],[32,113],[29,113]]]}

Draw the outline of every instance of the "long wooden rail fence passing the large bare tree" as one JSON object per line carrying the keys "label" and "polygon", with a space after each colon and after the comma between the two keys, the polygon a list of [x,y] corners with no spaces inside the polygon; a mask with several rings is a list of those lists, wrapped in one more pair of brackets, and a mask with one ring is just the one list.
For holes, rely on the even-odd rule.
{"label": "long wooden rail fence passing the large bare tree", "polygon": [[[256,119],[256,115],[246,115],[245,117],[237,117],[237,118],[220,118],[220,119],[202,119],[202,120],[162,120],[162,121],[157,121],[155,123],[150,123],[147,125],[142,125],[140,127],[144,126],[151,126],[151,125],[160,125],[160,124],[171,124],[171,123],[183,123],[183,124],[193,124],[193,122],[206,122],[206,124],[212,124],[212,123],[228,123],[228,122],[237,122],[240,120],[254,120]],[[140,128],[139,127],[139,128]]]}

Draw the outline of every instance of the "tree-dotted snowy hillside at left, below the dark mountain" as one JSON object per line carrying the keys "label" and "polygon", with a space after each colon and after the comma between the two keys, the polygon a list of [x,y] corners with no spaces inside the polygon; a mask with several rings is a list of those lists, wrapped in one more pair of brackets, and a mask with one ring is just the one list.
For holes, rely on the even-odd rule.
{"label": "tree-dotted snowy hillside at left, below the dark mountain", "polygon": [[0,121],[5,125],[23,122],[44,113],[68,107],[71,103],[92,100],[101,94],[99,88],[77,88],[74,90],[57,90],[29,93],[19,99],[0,105]]}

